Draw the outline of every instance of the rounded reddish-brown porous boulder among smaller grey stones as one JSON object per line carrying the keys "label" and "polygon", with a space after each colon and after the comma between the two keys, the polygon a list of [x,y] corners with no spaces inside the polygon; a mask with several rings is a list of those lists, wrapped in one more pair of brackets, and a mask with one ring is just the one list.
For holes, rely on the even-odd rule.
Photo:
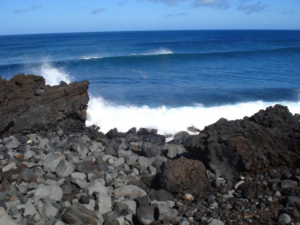
{"label": "rounded reddish-brown porous boulder among smaller grey stones", "polygon": [[201,161],[180,157],[165,165],[160,177],[161,187],[174,193],[202,194],[213,188],[205,178],[205,167]]}

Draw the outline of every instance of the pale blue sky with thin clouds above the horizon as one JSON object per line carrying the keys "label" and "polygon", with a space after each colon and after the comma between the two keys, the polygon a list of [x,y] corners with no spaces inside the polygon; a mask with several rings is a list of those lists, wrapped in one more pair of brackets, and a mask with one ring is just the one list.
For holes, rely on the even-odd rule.
{"label": "pale blue sky with thin clouds above the horizon", "polygon": [[300,29],[300,0],[0,0],[0,35]]}

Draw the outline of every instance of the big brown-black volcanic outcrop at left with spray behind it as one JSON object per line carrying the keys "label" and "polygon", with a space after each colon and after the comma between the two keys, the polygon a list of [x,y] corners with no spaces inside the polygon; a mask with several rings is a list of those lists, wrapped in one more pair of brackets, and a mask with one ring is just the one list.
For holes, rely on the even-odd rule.
{"label": "big brown-black volcanic outcrop at left with spray behind it", "polygon": [[[0,79],[0,137],[61,129],[85,124],[89,82],[45,85],[42,76],[24,73]],[[37,90],[44,90],[37,91]],[[38,95],[36,94],[38,93]]]}

